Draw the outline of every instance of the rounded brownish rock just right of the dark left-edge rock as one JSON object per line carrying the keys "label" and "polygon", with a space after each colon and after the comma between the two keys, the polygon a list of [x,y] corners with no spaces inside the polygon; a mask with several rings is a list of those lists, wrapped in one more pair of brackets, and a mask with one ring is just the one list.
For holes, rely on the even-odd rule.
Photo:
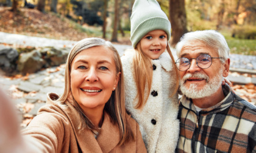
{"label": "rounded brownish rock just right of the dark left-edge rock", "polygon": [[41,58],[40,52],[38,50],[33,50],[30,53],[23,53],[18,60],[18,70],[22,74],[34,73],[40,70],[45,61]]}

